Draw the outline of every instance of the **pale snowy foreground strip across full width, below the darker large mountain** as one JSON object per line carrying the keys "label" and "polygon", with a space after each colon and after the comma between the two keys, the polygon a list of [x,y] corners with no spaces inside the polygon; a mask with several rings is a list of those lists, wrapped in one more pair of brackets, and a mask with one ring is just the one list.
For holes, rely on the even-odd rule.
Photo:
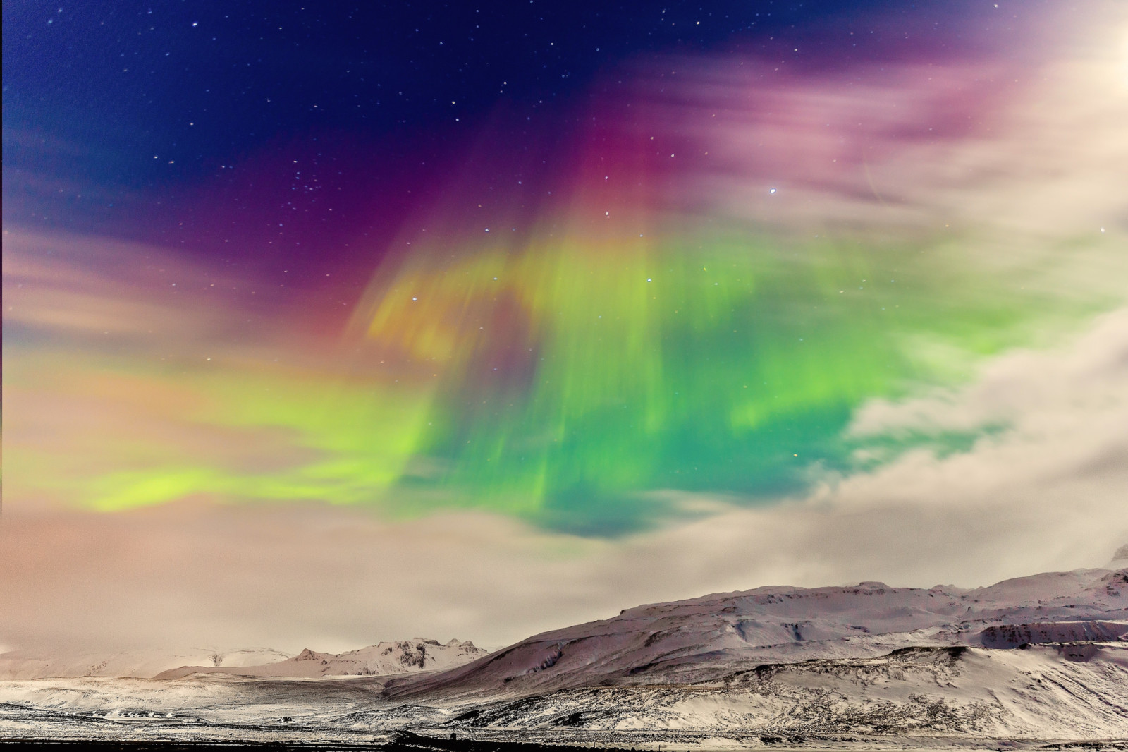
{"label": "pale snowy foreground strip across full width, below the darker large mountain", "polygon": [[[0,734],[133,740],[447,737],[705,750],[794,744],[1008,749],[1126,736],[1128,644],[906,648],[765,664],[724,681],[388,702],[382,680],[194,676],[0,683]],[[1095,749],[1120,749],[1098,744]]]}

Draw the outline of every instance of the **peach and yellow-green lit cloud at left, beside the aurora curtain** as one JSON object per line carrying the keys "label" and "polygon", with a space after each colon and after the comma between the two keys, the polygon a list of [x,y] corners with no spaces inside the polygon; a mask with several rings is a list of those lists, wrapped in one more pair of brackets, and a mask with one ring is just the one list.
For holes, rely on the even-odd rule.
{"label": "peach and yellow-green lit cloud at left, beside the aurora curtain", "polygon": [[301,295],[151,246],[5,233],[9,507],[372,501],[409,458],[426,403],[350,378],[363,359],[294,325]]}

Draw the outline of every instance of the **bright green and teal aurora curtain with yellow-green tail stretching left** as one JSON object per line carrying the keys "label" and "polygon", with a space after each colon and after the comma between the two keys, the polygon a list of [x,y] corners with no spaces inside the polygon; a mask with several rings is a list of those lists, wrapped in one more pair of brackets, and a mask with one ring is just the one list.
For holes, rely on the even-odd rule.
{"label": "bright green and teal aurora curtain with yellow-green tail stretching left", "polygon": [[[21,470],[7,480],[34,478],[98,510],[204,495],[364,504],[394,518],[481,508],[619,535],[684,514],[676,492],[761,504],[872,465],[875,452],[967,447],[979,434],[862,440],[846,428],[869,400],[959,384],[981,358],[1101,303],[1034,292],[955,237],[659,237],[565,234],[388,262],[346,336],[347,376],[140,373],[98,356],[88,370],[193,395],[178,402],[180,420],[248,441],[275,431],[305,454],[261,470],[134,441],[107,472],[81,452],[18,446],[8,460]],[[34,347],[9,348],[23,350],[6,387],[50,370]],[[105,437],[86,440],[105,452]],[[860,448],[873,451],[863,461]]]}

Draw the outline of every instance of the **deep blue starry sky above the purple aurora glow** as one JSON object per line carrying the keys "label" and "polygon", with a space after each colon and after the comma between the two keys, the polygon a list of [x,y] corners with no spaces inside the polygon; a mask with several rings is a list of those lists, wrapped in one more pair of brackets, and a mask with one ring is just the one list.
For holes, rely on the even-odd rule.
{"label": "deep blue starry sky above the purple aurora glow", "polygon": [[[632,61],[966,56],[1006,41],[990,6],[9,3],[5,221],[203,253],[341,246],[391,230],[472,143],[518,154],[567,138],[592,82]],[[296,245],[267,248],[283,215]]]}

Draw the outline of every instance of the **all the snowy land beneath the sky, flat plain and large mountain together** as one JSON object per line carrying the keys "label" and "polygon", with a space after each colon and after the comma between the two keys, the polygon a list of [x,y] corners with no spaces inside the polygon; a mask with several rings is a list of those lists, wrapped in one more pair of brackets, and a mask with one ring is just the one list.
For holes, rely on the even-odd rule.
{"label": "all the snowy land beneath the sky, flat plain and large mountain together", "polygon": [[[469,663],[390,675],[326,675],[309,665],[329,657],[310,653],[268,670],[6,681],[0,736],[390,743],[411,729],[654,749],[1118,747],[1128,569],[977,589],[758,588],[461,654]],[[350,659],[335,665],[360,665]]]}

